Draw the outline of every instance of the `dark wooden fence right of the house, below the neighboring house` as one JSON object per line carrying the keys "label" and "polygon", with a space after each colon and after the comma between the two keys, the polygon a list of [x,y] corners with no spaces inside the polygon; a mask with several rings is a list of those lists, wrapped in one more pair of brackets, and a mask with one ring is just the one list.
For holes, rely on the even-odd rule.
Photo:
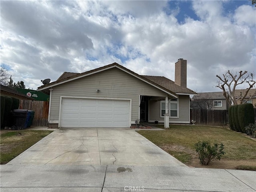
{"label": "dark wooden fence right of the house, below the neighboring house", "polygon": [[190,109],[190,120],[198,125],[226,125],[228,110]]}

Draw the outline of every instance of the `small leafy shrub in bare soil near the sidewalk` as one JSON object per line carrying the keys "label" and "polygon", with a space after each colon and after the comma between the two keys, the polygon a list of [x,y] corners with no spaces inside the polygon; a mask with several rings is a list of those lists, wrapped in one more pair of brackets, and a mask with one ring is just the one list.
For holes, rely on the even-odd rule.
{"label": "small leafy shrub in bare soil near the sidewalk", "polygon": [[212,146],[208,141],[199,141],[195,146],[202,165],[208,165],[211,161],[220,160],[226,153],[224,152],[224,144],[222,143],[215,143]]}

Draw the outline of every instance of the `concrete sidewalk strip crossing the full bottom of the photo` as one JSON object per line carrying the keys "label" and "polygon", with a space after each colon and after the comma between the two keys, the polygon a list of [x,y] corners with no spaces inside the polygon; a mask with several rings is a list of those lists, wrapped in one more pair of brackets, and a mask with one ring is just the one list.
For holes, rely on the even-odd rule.
{"label": "concrete sidewalk strip crossing the full bottom of the photo", "polygon": [[1,165],[1,192],[256,192],[256,172],[131,165]]}

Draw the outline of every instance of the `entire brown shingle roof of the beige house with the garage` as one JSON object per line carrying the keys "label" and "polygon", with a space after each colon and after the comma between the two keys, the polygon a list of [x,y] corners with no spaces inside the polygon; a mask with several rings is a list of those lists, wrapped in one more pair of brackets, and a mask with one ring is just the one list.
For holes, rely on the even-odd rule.
{"label": "entire brown shingle roof of the beige house with the garage", "polygon": [[137,76],[138,78],[142,78],[144,80],[146,80],[147,82],[149,83],[152,83],[156,86],[158,86],[159,88],[162,88],[168,92],[172,92],[172,93],[184,93],[184,94],[196,94],[196,92],[188,89],[188,88],[185,88],[185,87],[181,87],[181,86],[178,86],[176,85],[172,80],[168,79],[168,78],[165,78],[165,77],[159,77],[159,76],[143,76],[143,75],[139,75],[127,68],[125,68],[124,66],[118,64],[118,63],[112,63],[112,64],[109,64],[109,65],[106,65],[106,66],[103,66],[103,67],[100,67],[100,68],[96,68],[94,70],[90,70],[90,71],[87,71],[87,72],[83,72],[83,73],[71,73],[71,72],[64,72],[55,82],[51,82],[49,84],[46,84],[46,85],[43,85],[43,86],[40,86],[38,87],[38,89],[40,90],[44,90],[44,88],[47,88],[47,87],[51,87],[51,86],[54,86],[55,84],[59,84],[61,82],[66,82],[68,80],[72,80],[72,79],[75,79],[75,78],[79,78],[80,76],[84,76],[86,74],[91,74],[91,73],[95,73],[97,71],[101,71],[101,70],[104,70],[106,68],[109,68],[109,67],[113,67],[113,66],[118,66],[120,68],[122,68],[123,70]]}

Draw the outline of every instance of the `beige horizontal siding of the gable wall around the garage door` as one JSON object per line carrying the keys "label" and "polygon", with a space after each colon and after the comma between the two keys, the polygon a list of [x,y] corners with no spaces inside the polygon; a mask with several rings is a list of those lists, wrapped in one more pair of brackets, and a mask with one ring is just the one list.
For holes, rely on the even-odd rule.
{"label": "beige horizontal siding of the gable wall around the garage door", "polygon": [[[97,93],[100,90],[100,93]],[[132,123],[139,117],[139,95],[167,94],[117,68],[54,86],[50,106],[50,122],[59,120],[60,96],[132,99]],[[187,108],[188,111],[188,108]],[[159,113],[159,112],[158,112]]]}

